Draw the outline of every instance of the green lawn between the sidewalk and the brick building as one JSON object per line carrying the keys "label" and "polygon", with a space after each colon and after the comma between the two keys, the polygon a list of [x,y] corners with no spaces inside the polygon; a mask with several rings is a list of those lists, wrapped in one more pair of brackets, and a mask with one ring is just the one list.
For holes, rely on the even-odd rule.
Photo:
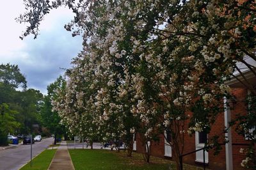
{"label": "green lawn between the sidewalk and the brick building", "polygon": [[143,162],[139,153],[132,153],[132,158],[127,153],[109,150],[69,150],[76,170],[79,169],[170,169],[172,162],[161,158],[151,157],[150,163]]}

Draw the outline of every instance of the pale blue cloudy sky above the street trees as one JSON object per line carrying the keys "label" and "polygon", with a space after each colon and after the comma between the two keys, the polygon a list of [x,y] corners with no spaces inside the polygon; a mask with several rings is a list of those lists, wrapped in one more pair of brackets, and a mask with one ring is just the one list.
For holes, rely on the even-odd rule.
{"label": "pale blue cloudy sky above the street trees", "polygon": [[0,6],[0,63],[19,65],[26,76],[28,88],[47,93],[47,85],[63,74],[60,68],[69,68],[72,58],[82,49],[81,36],[72,37],[63,26],[73,13],[61,8],[45,16],[40,25],[40,35],[20,40],[24,24],[15,22],[15,17],[24,12],[22,0],[1,1]]}

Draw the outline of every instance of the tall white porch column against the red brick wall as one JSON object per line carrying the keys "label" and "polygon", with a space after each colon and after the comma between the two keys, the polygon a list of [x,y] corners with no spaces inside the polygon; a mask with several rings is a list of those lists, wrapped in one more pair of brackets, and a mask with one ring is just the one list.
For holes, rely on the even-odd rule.
{"label": "tall white porch column against the red brick wall", "polygon": [[[227,98],[224,98],[224,119],[225,119],[225,127],[228,128],[228,122],[231,120],[230,116],[230,108],[227,105],[227,102],[229,103],[230,100],[227,100]],[[232,135],[231,135],[231,128],[228,129],[228,132],[225,133],[225,138],[229,141],[225,145],[226,149],[226,169],[227,170],[232,170],[233,169],[233,155],[232,155]]]}

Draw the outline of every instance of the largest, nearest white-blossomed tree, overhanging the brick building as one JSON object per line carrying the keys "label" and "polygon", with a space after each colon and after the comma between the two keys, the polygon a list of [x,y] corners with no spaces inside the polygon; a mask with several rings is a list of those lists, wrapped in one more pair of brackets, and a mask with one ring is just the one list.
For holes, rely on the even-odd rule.
{"label": "largest, nearest white-blossomed tree, overhanging the brick building", "polygon": [[[97,84],[97,93],[87,97],[95,100],[96,112],[103,118],[100,125],[141,121],[132,127],[116,126],[111,135],[129,134],[129,128],[132,132],[135,128],[147,143],[161,127],[171,130],[177,158],[183,150],[185,121],[190,120],[189,134],[210,132],[218,112],[224,110],[220,101],[230,97],[225,82],[233,77],[256,94],[244,75],[244,68],[256,75],[251,62],[256,61],[254,1],[25,2],[33,10],[19,18],[31,23],[24,36],[37,35],[40,20],[51,8],[65,5],[76,13],[65,28],[73,35],[83,34],[82,58],[90,58],[92,86]],[[76,117],[71,116],[76,109],[69,111],[70,118]],[[189,117],[188,112],[193,114]],[[243,118],[249,120],[250,115]]]}

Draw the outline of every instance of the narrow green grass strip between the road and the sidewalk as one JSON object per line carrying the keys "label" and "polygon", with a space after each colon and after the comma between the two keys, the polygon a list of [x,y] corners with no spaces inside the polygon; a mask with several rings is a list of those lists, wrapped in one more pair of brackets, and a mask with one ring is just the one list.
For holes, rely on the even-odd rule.
{"label": "narrow green grass strip between the road and the sidewalk", "polygon": [[22,167],[20,170],[26,170],[26,169],[46,170],[51,164],[52,158],[55,153],[56,153],[56,150],[44,150],[42,153],[40,153],[40,155],[33,158],[32,167],[30,167],[30,162],[28,162],[28,164],[26,164],[26,166]]}

